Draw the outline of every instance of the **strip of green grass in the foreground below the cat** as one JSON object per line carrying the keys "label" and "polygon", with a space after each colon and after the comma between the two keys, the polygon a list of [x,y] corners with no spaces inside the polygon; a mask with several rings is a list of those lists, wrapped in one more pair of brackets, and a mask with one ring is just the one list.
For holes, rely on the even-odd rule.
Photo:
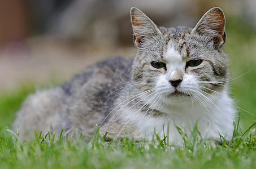
{"label": "strip of green grass in the foreground below the cat", "polygon": [[[134,143],[127,138],[105,143],[96,134],[92,143],[81,138],[60,141],[37,136],[21,141],[5,127],[0,128],[0,168],[255,168],[256,134],[235,131],[231,142],[208,143],[203,138],[188,139],[184,146],[172,147],[156,135],[150,143]],[[197,128],[192,133],[198,136]],[[193,139],[194,138],[194,139]]]}

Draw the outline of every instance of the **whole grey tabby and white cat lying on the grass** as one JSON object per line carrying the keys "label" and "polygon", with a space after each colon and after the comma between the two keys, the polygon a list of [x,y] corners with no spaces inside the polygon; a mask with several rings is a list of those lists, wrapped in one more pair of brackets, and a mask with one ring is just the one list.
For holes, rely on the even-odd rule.
{"label": "whole grey tabby and white cat lying on the grass", "polygon": [[13,125],[20,137],[67,128],[89,139],[99,126],[108,140],[151,140],[155,132],[181,144],[177,127],[189,134],[197,125],[206,139],[232,138],[236,110],[228,95],[222,9],[211,8],[194,28],[164,28],[132,7],[131,23],[134,59],[107,59],[62,86],[29,95]]}

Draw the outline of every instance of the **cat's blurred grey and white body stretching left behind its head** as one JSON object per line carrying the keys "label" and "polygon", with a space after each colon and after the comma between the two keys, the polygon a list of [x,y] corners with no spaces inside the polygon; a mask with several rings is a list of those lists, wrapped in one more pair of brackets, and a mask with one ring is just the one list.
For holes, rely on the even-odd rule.
{"label": "cat's blurred grey and white body stretching left behind its head", "polygon": [[[129,81],[132,60],[114,57],[89,66],[62,86],[37,91],[24,101],[13,129],[20,135],[61,131],[63,128],[93,130],[114,104],[118,91]],[[83,125],[83,126],[81,126]]]}

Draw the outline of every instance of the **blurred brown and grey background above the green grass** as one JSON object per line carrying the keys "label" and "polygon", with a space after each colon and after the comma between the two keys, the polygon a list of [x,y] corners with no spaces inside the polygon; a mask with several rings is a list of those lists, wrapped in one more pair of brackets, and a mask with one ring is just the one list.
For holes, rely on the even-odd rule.
{"label": "blurred brown and grey background above the green grass", "polygon": [[132,57],[132,6],[170,27],[194,26],[219,6],[226,17],[256,27],[255,0],[0,1],[0,92],[27,82],[61,83],[105,57]]}

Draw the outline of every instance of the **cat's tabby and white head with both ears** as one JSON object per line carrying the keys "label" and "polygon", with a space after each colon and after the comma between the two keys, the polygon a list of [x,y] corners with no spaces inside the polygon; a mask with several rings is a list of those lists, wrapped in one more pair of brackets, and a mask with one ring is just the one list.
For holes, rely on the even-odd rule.
{"label": "cat's tabby and white head with both ears", "polygon": [[211,8],[194,28],[157,26],[137,8],[131,9],[134,45],[132,81],[167,104],[205,99],[225,88],[228,58],[225,16]]}

